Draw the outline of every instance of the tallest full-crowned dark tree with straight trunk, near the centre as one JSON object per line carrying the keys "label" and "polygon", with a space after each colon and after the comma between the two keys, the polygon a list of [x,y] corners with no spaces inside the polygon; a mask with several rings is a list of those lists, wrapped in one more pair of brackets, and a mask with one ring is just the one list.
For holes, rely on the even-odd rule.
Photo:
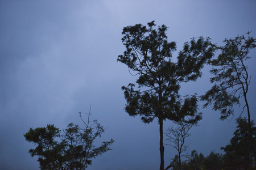
{"label": "tallest full-crowned dark tree with straight trunk, near the centre", "polygon": [[[183,50],[172,59],[176,42],[167,41],[167,27],[155,29],[155,23],[147,26],[136,24],[123,28],[122,42],[126,47],[117,61],[125,63],[132,75],[137,75],[135,87],[130,83],[122,90],[127,101],[125,111],[130,116],[141,116],[144,123],[158,119],[160,133],[160,170],[164,169],[163,121],[179,121],[197,113],[197,97],[178,94],[181,82],[195,81],[201,76],[204,63],[213,56],[209,38],[193,38],[185,42]],[[200,120],[195,117],[192,121]]]}

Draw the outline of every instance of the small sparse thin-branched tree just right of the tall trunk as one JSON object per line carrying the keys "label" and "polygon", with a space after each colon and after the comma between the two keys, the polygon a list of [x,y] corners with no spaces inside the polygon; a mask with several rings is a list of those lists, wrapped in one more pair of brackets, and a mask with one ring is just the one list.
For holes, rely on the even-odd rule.
{"label": "small sparse thin-branched tree just right of the tall trunk", "polygon": [[174,147],[178,152],[178,167],[181,169],[181,157],[185,155],[181,155],[182,152],[186,151],[188,146],[185,144],[185,139],[190,137],[191,134],[188,131],[195,126],[195,124],[191,124],[187,121],[179,121],[176,122],[176,128],[174,126],[169,127],[166,131],[167,141],[171,143],[167,143],[166,145],[170,145]]}

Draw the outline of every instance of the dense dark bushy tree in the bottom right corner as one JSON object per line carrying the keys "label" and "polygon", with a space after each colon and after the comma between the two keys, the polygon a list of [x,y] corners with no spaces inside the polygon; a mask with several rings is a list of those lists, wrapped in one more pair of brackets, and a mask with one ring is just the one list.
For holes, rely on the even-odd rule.
{"label": "dense dark bushy tree in the bottom right corner", "polygon": [[251,121],[251,132],[253,134],[253,150],[251,147],[251,139],[249,135],[249,127],[246,118],[237,119],[237,130],[234,131],[234,137],[230,140],[229,145],[222,147],[224,150],[225,169],[249,169],[255,167],[255,155],[253,151],[256,149],[256,127],[254,121]]}

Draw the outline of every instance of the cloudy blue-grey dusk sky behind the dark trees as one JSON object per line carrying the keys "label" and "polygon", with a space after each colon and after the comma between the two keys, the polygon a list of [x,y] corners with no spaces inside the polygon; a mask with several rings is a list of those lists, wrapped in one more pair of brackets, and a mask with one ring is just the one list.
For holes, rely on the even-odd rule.
{"label": "cloudy blue-grey dusk sky behind the dark trees", "polygon": [[[256,37],[256,1],[0,1],[0,167],[39,169],[23,134],[29,128],[54,124],[64,129],[81,124],[79,112],[108,128],[98,140],[115,142],[93,159],[90,170],[159,169],[159,125],[143,124],[124,111],[122,86],[133,83],[126,65],[117,62],[125,51],[122,28],[155,20],[168,27],[177,52],[192,37],[211,37],[223,45],[228,37],[248,31]],[[256,49],[247,62],[251,83],[249,104],[255,120]],[[175,57],[175,55],[174,55]],[[209,66],[197,82],[181,84],[180,94],[203,95],[210,89]],[[200,126],[185,144],[205,156],[228,145],[242,109],[220,121],[220,114],[203,109]],[[84,114],[85,115],[85,114]],[[246,116],[245,113],[242,116]],[[164,129],[172,122],[164,122]],[[164,141],[167,143],[167,141]],[[165,167],[177,151],[165,146]]]}

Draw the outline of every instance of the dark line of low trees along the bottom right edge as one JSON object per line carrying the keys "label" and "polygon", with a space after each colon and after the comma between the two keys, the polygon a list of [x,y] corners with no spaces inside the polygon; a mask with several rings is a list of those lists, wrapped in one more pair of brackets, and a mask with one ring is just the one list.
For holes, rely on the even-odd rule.
{"label": "dark line of low trees along the bottom right edge", "polygon": [[[196,150],[187,156],[187,159],[179,163],[179,156],[176,155],[172,159],[172,168],[174,170],[187,169],[187,170],[243,170],[243,169],[256,169],[254,162],[255,156],[253,150],[250,149],[250,135],[248,131],[248,120],[246,118],[237,119],[237,128],[234,131],[234,136],[230,143],[225,147],[221,147],[224,154],[210,152],[208,156],[198,154]],[[256,148],[256,127],[254,121],[251,121],[251,130],[253,133],[253,148]]]}

